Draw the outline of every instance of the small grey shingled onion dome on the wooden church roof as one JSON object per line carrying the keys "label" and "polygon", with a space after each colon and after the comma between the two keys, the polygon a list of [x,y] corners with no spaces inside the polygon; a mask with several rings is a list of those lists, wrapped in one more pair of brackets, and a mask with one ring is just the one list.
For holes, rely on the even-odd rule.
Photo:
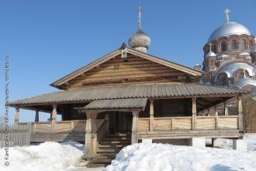
{"label": "small grey shingled onion dome on the wooden church roof", "polygon": [[147,34],[143,32],[142,29],[138,29],[137,32],[133,34],[133,36],[131,36],[129,39],[129,46],[140,51],[146,50],[147,52],[150,43],[150,37],[147,36]]}

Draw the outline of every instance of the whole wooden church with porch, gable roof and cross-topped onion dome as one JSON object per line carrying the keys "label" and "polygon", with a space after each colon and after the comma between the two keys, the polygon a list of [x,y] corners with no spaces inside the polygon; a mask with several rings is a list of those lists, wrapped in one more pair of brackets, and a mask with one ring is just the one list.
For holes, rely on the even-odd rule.
{"label": "whole wooden church with porch, gable roof and cross-topped onion dome", "polygon": [[[31,142],[85,142],[86,159],[112,159],[123,146],[141,141],[242,139],[241,98],[250,92],[199,84],[202,71],[150,55],[149,45],[139,17],[129,46],[123,43],[50,84],[60,91],[12,101],[16,124],[26,124],[19,122],[19,108],[33,110]],[[218,115],[217,105],[231,98],[238,113]],[[210,110],[214,115],[206,115]],[[40,112],[48,112],[50,121],[39,121]]]}

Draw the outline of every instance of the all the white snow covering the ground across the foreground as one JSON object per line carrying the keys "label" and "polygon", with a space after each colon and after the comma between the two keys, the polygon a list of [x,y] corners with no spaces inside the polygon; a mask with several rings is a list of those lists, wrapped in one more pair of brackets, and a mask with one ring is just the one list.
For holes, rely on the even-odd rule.
{"label": "all the white snow covering the ground across the foreground", "polygon": [[197,170],[255,171],[256,134],[244,135],[247,152],[232,149],[232,140],[221,139],[222,148],[199,148],[179,145],[140,143],[126,146],[106,168],[88,169],[78,165],[84,145],[78,142],[44,142],[9,149],[8,167],[4,166],[4,149],[0,149],[2,171],[130,171]]}

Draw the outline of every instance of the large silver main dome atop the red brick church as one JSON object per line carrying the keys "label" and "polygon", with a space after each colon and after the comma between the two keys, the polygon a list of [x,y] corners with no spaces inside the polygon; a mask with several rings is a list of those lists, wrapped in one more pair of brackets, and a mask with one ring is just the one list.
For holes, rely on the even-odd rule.
{"label": "large silver main dome atop the red brick church", "polygon": [[242,35],[242,34],[251,36],[251,32],[245,26],[237,22],[228,22],[218,27],[216,30],[214,30],[211,36],[209,36],[208,42],[212,41],[213,39],[219,39],[220,37],[223,37],[223,36]]}

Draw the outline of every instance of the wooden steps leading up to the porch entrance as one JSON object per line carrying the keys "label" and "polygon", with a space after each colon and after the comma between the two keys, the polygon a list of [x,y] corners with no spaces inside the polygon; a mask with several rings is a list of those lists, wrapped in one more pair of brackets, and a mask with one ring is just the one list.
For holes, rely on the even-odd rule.
{"label": "wooden steps leading up to the porch entrance", "polygon": [[116,158],[116,154],[126,145],[130,145],[130,135],[114,134],[106,135],[102,142],[99,143],[97,154],[88,159],[88,168],[99,166],[108,166],[112,159]]}

